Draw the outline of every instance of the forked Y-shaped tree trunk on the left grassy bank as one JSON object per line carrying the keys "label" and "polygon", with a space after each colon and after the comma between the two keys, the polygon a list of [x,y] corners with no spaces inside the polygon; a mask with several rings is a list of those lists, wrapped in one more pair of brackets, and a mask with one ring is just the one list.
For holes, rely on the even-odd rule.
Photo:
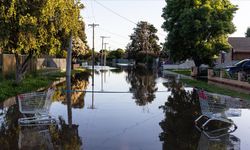
{"label": "forked Y-shaped tree trunk on the left grassy bank", "polygon": [[33,53],[30,52],[29,55],[26,57],[26,59],[21,62],[20,55],[15,54],[16,59],[16,80],[15,83],[19,84],[27,72],[28,62],[31,60]]}

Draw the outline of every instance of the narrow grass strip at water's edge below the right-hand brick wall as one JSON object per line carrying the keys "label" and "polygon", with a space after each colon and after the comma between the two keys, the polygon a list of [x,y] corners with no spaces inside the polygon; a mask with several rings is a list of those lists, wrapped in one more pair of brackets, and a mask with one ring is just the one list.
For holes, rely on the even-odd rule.
{"label": "narrow grass strip at water's edge below the right-hand brick wall", "polygon": [[228,95],[231,97],[238,97],[238,98],[250,100],[250,94],[241,93],[241,92],[237,92],[237,91],[226,89],[226,88],[221,88],[216,85],[209,85],[205,81],[198,81],[198,80],[193,80],[193,79],[181,79],[181,81],[183,83],[186,83],[189,86],[197,87],[199,89],[204,89],[211,93],[218,93],[222,95]]}

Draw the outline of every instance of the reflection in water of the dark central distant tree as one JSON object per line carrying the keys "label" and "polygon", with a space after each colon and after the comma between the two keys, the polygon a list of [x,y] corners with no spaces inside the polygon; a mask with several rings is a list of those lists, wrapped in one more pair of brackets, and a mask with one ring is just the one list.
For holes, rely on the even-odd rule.
{"label": "reflection in water of the dark central distant tree", "polygon": [[152,70],[144,67],[137,67],[136,69],[128,69],[127,80],[130,82],[130,92],[133,93],[133,98],[139,106],[145,106],[151,103],[155,98],[156,75]]}

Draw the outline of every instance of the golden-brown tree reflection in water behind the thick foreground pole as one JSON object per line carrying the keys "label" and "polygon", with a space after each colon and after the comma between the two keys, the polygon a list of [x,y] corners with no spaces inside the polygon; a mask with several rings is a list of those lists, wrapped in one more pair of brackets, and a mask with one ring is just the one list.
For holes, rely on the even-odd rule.
{"label": "golden-brown tree reflection in water behind the thick foreground pole", "polygon": [[[90,73],[87,71],[76,73],[71,79],[71,89],[73,91],[85,91],[89,84]],[[62,83],[57,87],[53,99],[57,101],[62,101],[63,104],[67,104],[66,93],[66,82]],[[84,107],[84,96],[86,92],[72,92],[71,93],[71,103],[73,108],[83,108]]]}

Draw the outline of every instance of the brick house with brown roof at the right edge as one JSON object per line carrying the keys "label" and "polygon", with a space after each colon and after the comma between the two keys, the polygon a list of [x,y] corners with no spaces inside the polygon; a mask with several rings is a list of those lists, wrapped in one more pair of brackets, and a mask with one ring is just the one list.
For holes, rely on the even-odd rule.
{"label": "brick house with brown roof at the right edge", "polygon": [[217,63],[229,64],[250,58],[250,38],[249,37],[229,37],[228,42],[231,49],[228,52],[222,51]]}

